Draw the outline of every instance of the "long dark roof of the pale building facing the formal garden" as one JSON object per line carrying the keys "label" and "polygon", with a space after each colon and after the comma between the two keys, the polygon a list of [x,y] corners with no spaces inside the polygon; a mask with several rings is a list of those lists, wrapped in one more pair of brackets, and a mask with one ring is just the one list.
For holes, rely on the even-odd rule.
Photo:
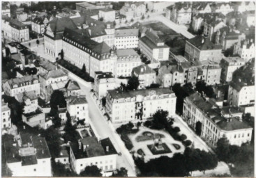
{"label": "long dark roof of the pale building facing the formal garden", "polygon": [[127,90],[127,91],[119,91],[119,90],[108,90],[110,96],[113,99],[120,98],[129,98],[136,97],[137,95],[149,96],[151,93],[156,92],[156,95],[165,95],[174,93],[170,88],[151,88],[151,89],[142,89],[142,90]]}

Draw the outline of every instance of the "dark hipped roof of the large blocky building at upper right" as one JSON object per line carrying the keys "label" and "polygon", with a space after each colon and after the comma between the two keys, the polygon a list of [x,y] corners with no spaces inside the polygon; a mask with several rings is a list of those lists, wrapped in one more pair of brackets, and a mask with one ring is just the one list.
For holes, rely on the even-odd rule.
{"label": "dark hipped roof of the large blocky building at upper right", "polygon": [[191,44],[200,50],[215,50],[222,49],[220,44],[213,44],[209,38],[205,38],[202,35],[197,35],[194,38],[188,40]]}

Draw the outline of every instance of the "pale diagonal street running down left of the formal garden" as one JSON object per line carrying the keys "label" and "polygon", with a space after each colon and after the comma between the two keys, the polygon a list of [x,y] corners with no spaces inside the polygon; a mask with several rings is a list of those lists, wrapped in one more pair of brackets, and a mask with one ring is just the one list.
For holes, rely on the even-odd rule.
{"label": "pale diagonal street running down left of the formal garden", "polygon": [[105,121],[105,118],[100,113],[98,106],[96,106],[96,103],[91,97],[90,89],[86,86],[83,86],[82,83],[79,83],[79,85],[82,90],[82,95],[86,95],[86,100],[89,104],[89,117],[91,118],[91,123],[98,132],[98,135],[100,136],[100,138],[109,137],[110,140],[112,140],[116,151],[122,153],[122,155],[118,156],[117,158],[117,168],[124,167],[128,170],[129,177],[135,177],[135,168],[133,166],[133,163],[129,162],[130,158],[128,158],[128,156],[131,155],[129,154],[128,149],[126,149],[126,147],[123,147],[123,143],[120,143],[121,139],[116,138],[116,133],[112,131],[110,125],[107,124],[107,121]]}

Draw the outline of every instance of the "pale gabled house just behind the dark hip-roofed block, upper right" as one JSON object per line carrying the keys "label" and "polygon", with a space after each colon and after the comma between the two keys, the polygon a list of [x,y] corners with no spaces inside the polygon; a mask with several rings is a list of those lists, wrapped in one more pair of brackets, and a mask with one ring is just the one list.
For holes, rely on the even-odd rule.
{"label": "pale gabled house just behind the dark hip-roofed block, upper right", "polygon": [[246,35],[232,29],[230,26],[225,26],[216,32],[215,43],[221,44],[223,50],[231,48],[236,42],[246,39]]}

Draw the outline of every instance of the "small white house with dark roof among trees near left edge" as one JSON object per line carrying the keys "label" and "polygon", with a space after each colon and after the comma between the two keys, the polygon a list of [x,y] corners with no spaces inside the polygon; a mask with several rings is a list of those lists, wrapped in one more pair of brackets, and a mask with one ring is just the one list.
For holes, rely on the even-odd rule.
{"label": "small white house with dark roof among trees near left edge", "polygon": [[24,104],[23,113],[35,112],[38,108],[38,96],[35,91],[19,93],[15,96],[15,99],[20,103]]}

